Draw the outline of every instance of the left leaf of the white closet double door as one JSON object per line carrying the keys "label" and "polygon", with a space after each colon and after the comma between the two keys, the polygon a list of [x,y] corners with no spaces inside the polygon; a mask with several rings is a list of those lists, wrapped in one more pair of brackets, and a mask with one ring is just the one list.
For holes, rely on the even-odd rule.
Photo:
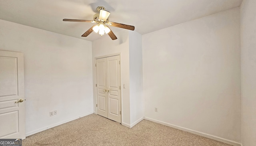
{"label": "left leaf of the white closet double door", "polygon": [[96,60],[97,113],[108,118],[106,58]]}

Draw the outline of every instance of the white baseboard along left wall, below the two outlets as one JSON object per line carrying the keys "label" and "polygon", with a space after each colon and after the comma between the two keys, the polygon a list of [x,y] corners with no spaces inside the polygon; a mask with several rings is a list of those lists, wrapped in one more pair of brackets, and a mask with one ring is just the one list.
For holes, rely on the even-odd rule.
{"label": "white baseboard along left wall, below the two outlets", "polygon": [[59,125],[61,125],[61,124],[70,122],[70,121],[72,121],[72,120],[76,120],[76,119],[78,119],[78,118],[82,118],[82,117],[84,117],[84,116],[88,116],[89,114],[93,114],[93,112],[88,112],[88,113],[86,113],[86,114],[82,114],[82,115],[80,115],[80,116],[75,116],[74,118],[70,118],[70,119],[64,120],[64,121],[62,121],[62,122],[58,122],[58,123],[56,123],[56,124],[52,124],[52,125],[49,125],[49,126],[40,128],[40,129],[38,129],[38,130],[34,130],[34,131],[32,131],[32,132],[28,132],[28,133],[26,133],[26,136],[30,136],[30,135],[32,135],[32,134],[36,134],[36,133],[38,133],[38,132],[42,132],[42,131],[47,130],[47,129],[49,129],[49,128],[52,128],[52,127],[55,127],[55,126],[59,126]]}

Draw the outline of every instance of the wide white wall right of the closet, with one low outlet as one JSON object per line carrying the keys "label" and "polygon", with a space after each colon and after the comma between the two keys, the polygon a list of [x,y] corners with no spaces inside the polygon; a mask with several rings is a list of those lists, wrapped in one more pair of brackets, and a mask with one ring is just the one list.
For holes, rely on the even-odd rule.
{"label": "wide white wall right of the closet, with one low outlet", "polygon": [[142,54],[145,117],[240,142],[239,8],[142,35]]}

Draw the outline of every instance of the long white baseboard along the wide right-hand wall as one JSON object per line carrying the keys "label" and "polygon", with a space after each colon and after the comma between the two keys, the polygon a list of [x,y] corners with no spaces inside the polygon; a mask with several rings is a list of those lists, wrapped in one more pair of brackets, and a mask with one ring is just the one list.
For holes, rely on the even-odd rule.
{"label": "long white baseboard along the wide right-hand wall", "polygon": [[169,126],[169,127],[172,127],[172,128],[176,128],[176,129],[179,129],[179,130],[182,130],[182,131],[190,132],[190,133],[193,133],[193,134],[196,134],[196,135],[204,136],[206,138],[217,140],[219,142],[230,144],[232,146],[242,146],[242,144],[239,143],[239,142],[235,142],[235,141],[232,141],[232,140],[228,140],[228,139],[221,138],[221,137],[218,137],[218,136],[214,136],[214,135],[211,135],[211,134],[207,134],[207,133],[204,133],[204,132],[199,132],[199,131],[196,131],[196,130],[184,128],[184,127],[177,126],[177,125],[174,125],[174,124],[169,124],[169,123],[162,122],[160,120],[155,120],[155,119],[148,118],[148,117],[145,117],[144,119],[145,120],[150,120],[152,122],[156,122],[156,123],[159,123],[159,124],[162,124],[162,125],[165,125],[165,126]]}

